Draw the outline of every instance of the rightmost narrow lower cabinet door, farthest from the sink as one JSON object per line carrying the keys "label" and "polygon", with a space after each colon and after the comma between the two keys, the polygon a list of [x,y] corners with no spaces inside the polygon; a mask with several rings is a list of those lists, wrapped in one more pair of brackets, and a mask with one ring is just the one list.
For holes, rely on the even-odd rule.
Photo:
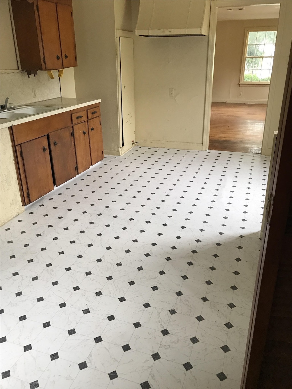
{"label": "rightmost narrow lower cabinet door, farthest from the sink", "polygon": [[91,165],[104,158],[104,146],[102,143],[102,127],[100,117],[88,120],[88,132],[91,154]]}

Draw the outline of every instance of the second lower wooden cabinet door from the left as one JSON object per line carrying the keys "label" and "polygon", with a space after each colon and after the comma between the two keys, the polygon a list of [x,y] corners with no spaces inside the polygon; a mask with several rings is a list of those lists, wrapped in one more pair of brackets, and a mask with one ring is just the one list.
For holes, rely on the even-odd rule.
{"label": "second lower wooden cabinet door from the left", "polygon": [[49,133],[56,186],[76,176],[76,155],[72,127]]}

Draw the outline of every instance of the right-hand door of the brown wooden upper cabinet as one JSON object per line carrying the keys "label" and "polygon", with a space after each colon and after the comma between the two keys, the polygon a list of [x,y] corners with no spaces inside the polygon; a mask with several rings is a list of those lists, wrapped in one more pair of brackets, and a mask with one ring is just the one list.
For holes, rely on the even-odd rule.
{"label": "right-hand door of the brown wooden upper cabinet", "polygon": [[75,33],[72,8],[69,5],[56,3],[62,49],[63,67],[77,66]]}

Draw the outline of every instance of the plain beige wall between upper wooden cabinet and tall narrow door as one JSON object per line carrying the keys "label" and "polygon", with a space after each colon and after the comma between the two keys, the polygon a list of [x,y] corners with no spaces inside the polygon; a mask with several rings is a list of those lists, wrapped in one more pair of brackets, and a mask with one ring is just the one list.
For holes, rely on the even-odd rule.
{"label": "plain beige wall between upper wooden cabinet and tall narrow door", "polygon": [[100,98],[105,153],[119,151],[114,1],[73,1],[76,97]]}

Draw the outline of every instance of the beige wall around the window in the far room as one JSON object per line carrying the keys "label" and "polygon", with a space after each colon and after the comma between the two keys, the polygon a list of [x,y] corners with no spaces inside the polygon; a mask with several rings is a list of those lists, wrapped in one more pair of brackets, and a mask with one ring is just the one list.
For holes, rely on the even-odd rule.
{"label": "beige wall around the window in the far room", "polygon": [[[277,26],[278,19],[218,21],[213,75],[213,102],[266,103],[269,87],[239,86],[246,27]],[[242,92],[242,96],[239,96]]]}

